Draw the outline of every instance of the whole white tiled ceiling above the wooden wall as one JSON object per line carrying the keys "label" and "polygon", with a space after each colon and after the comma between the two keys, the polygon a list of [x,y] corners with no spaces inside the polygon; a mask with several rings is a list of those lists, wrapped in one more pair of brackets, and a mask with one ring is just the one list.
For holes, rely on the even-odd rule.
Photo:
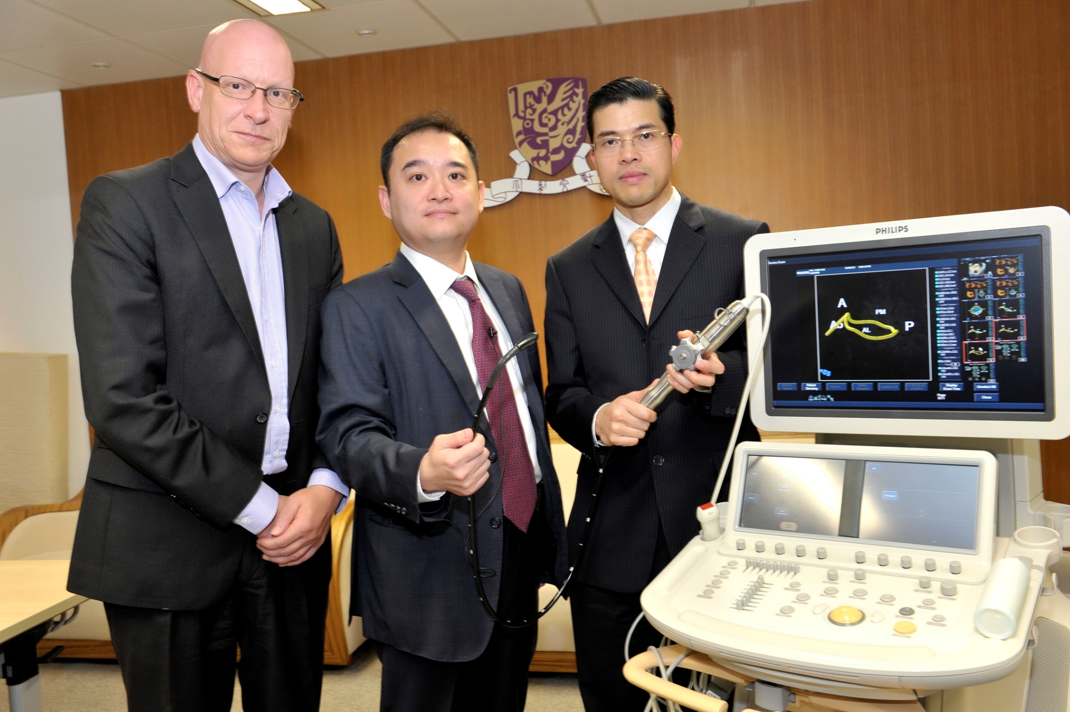
{"label": "whole white tiled ceiling above the wooden wall", "polygon": [[[318,1],[326,10],[261,18],[299,62],[798,0]],[[0,96],[178,76],[239,17],[256,15],[234,0],[0,0]]]}

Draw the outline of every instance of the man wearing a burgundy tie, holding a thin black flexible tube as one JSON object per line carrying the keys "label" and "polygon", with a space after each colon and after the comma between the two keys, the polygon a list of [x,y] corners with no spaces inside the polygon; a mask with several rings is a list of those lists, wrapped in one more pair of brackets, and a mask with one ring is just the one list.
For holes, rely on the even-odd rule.
{"label": "man wearing a burgundy tie, holding a thin black flexible tube", "polygon": [[484,610],[468,559],[475,497],[487,598],[534,622],[566,563],[538,354],[521,352],[471,422],[491,370],[534,330],[520,281],[473,263],[483,211],[472,140],[447,115],[383,145],[394,261],[323,310],[319,444],[356,493],[353,614],[383,663],[384,711],[523,710],[536,626]]}

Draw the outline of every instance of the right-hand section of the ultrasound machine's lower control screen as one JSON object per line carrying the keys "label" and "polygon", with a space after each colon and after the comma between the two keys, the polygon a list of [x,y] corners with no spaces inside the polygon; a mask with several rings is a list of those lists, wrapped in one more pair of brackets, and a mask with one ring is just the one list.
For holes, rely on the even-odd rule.
{"label": "right-hand section of the ultrasound machine's lower control screen", "polygon": [[867,462],[858,537],[973,550],[979,477],[974,465]]}

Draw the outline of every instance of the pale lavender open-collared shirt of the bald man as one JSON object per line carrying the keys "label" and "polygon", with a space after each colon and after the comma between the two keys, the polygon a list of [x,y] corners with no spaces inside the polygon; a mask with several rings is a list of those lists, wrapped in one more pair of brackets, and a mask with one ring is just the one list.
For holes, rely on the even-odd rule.
{"label": "pale lavender open-collared shirt of the bald man", "polygon": [[[264,475],[281,473],[287,467],[286,451],[290,443],[289,357],[286,337],[286,287],[282,283],[282,256],[278,246],[275,208],[293,192],[274,167],[264,176],[264,206],[260,210],[256,195],[238,180],[201,141],[194,137],[194,153],[200,160],[215,195],[219,198],[223,216],[227,219],[230,239],[238,253],[245,290],[253,305],[253,316],[260,334],[260,349],[268,369],[271,388],[271,412],[264,437],[264,456],[260,469]],[[338,475],[320,467],[312,470],[308,484],[323,484],[341,493],[338,511],[346,506],[349,487]],[[260,489],[235,524],[259,533],[272,523],[278,512],[278,493],[266,483]]]}

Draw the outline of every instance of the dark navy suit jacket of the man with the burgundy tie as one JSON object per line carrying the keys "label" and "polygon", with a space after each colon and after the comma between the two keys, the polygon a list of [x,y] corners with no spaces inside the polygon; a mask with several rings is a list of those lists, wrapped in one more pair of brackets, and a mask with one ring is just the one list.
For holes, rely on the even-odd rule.
{"label": "dark navy suit jacket of the man with the burgundy tie", "polygon": [[[514,343],[533,331],[520,280],[485,264],[476,263],[475,270]],[[444,662],[475,659],[487,647],[493,621],[476,597],[465,554],[468,498],[446,493],[421,505],[416,487],[431,440],[471,427],[479,399],[442,309],[403,254],[327,298],[322,359],[319,444],[356,492],[353,614],[363,617],[369,638],[406,652]],[[517,359],[553,535],[542,579],[557,583],[567,547],[542,411],[542,373],[537,350]],[[493,451],[486,424],[483,433]],[[504,532],[501,486],[494,464],[476,493],[479,559],[495,607]]]}

